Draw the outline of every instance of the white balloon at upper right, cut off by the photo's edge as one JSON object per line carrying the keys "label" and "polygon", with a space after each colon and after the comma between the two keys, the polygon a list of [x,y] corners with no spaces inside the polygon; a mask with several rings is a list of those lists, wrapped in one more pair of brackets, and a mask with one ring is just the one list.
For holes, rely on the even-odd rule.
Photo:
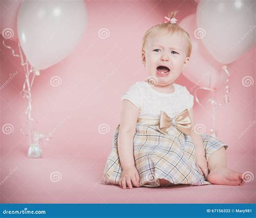
{"label": "white balloon at upper right, cut off by the photo's edge", "polygon": [[238,59],[255,44],[255,0],[203,0],[197,7],[197,27],[213,58],[223,64]]}

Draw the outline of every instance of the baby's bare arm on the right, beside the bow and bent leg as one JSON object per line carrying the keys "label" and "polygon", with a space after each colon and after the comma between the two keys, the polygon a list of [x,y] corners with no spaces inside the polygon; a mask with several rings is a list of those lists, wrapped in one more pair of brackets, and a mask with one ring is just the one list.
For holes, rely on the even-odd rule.
{"label": "baby's bare arm on the right, beside the bow and bent leg", "polygon": [[195,150],[196,150],[196,160],[197,165],[201,172],[205,175],[205,179],[208,176],[208,166],[207,161],[205,158],[205,149],[204,149],[204,143],[200,135],[194,131],[194,117],[193,117],[193,108],[188,110],[188,113],[190,114],[191,121],[193,123],[192,129],[190,132],[190,137],[192,138]]}

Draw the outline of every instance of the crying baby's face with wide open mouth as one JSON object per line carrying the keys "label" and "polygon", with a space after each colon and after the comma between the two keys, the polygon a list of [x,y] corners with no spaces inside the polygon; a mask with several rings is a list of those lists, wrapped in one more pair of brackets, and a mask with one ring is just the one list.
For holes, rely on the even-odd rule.
{"label": "crying baby's face with wide open mouth", "polygon": [[147,39],[142,59],[148,76],[157,78],[156,86],[175,82],[186,68],[187,40],[181,34],[161,33]]}

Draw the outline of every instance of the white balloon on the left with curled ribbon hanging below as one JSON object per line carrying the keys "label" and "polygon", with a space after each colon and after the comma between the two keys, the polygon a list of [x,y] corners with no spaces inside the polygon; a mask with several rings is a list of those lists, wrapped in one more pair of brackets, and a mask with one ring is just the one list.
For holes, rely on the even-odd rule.
{"label": "white balloon on the left with curled ribbon hanging below", "polygon": [[68,57],[86,28],[84,0],[23,1],[18,37],[31,66],[45,69]]}

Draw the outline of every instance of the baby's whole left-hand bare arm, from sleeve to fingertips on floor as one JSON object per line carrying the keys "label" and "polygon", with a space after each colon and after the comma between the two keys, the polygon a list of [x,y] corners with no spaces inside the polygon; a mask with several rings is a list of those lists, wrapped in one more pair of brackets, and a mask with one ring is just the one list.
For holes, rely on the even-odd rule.
{"label": "baby's whole left-hand bare arm, from sleeve to fingertips on floor", "polygon": [[122,168],[122,175],[119,185],[126,188],[139,186],[139,173],[135,167],[133,156],[133,137],[136,132],[136,123],[139,115],[139,109],[129,100],[122,101],[122,110],[120,115],[120,127],[118,133],[118,154]]}

